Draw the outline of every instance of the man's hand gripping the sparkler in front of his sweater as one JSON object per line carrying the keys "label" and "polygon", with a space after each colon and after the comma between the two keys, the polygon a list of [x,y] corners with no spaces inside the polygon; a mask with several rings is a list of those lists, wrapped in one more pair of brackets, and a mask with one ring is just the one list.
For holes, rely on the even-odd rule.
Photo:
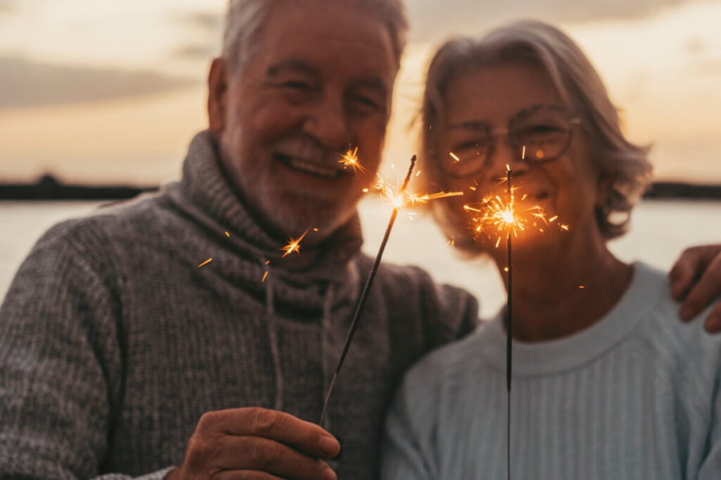
{"label": "man's hand gripping the sparkler in front of his sweater", "polygon": [[335,480],[321,458],[340,443],[318,425],[257,407],[219,410],[200,417],[185,460],[169,480]]}

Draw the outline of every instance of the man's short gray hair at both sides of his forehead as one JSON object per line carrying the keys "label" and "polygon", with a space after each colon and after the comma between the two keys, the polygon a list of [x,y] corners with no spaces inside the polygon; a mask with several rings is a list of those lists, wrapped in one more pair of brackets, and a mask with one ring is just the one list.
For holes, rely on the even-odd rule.
{"label": "man's short gray hair at both sides of his forehead", "polygon": [[[229,0],[223,34],[223,58],[231,71],[242,68],[255,53],[257,36],[270,11],[282,1],[308,0]],[[318,1],[318,0],[314,0]],[[364,12],[376,15],[386,24],[391,36],[397,66],[405,47],[408,21],[402,0],[326,0],[344,1]]]}

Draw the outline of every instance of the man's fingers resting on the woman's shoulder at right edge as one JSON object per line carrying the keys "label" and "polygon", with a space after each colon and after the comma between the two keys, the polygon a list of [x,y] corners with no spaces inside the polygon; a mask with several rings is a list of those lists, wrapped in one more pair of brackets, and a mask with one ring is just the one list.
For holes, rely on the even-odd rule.
{"label": "man's fingers resting on the woman's shoulder at right edge", "polygon": [[[721,244],[686,248],[669,277],[673,298],[683,300],[679,315],[689,321],[721,294]],[[721,331],[721,302],[711,309],[704,327]]]}

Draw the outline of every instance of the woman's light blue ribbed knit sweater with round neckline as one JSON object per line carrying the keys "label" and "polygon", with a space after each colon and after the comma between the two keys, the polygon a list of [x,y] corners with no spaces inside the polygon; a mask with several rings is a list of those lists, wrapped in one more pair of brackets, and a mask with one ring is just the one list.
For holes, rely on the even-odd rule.
{"label": "woman's light blue ribbed knit sweater with round neckline", "polygon": [[[511,478],[721,479],[721,338],[678,321],[643,264],[600,322],[514,343]],[[505,479],[505,330],[496,317],[407,373],[386,420],[388,479]]]}

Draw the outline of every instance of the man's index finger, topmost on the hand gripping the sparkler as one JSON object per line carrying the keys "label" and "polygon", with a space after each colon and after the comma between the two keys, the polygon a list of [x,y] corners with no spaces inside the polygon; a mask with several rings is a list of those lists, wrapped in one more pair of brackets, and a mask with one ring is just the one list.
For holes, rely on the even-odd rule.
{"label": "man's index finger, topmost on the hand gripping the sparkler", "polygon": [[279,443],[316,458],[333,458],[340,443],[322,427],[276,410],[247,407],[208,412],[200,417],[198,430],[226,435],[251,436]]}

